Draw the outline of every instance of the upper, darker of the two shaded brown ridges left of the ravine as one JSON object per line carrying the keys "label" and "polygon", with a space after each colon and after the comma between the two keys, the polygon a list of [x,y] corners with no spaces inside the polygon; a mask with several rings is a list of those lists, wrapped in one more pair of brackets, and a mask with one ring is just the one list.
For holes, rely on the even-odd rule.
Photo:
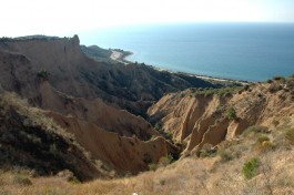
{"label": "upper, darker of the two shaded brown ridges left of the ravine", "polygon": [[57,92],[47,81],[40,84],[40,95],[43,109],[93,123],[104,131],[115,132],[121,136],[134,135],[140,140],[150,140],[152,135],[159,135],[141,116],[110,106],[101,99],[68,96]]}

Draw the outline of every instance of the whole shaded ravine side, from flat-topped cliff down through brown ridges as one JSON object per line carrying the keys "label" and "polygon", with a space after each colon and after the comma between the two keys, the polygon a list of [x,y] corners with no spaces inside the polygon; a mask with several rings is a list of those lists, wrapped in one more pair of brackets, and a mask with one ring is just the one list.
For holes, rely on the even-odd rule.
{"label": "whole shaded ravine side, from flat-topped cliff down through brown ridges", "polygon": [[118,173],[138,173],[179,153],[162,137],[149,141],[159,133],[128,111],[144,113],[166,91],[212,85],[146,65],[97,62],[82,53],[78,37],[0,40],[0,83],[47,110],[94,160]]}

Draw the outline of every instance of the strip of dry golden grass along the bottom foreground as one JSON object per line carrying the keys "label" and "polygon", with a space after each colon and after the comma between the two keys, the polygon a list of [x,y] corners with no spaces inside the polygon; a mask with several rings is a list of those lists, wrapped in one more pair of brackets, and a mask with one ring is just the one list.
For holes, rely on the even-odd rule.
{"label": "strip of dry golden grass along the bottom foreground", "polygon": [[[253,155],[252,155],[253,156]],[[220,157],[187,157],[138,176],[72,184],[63,177],[30,177],[32,185],[13,183],[13,173],[2,173],[0,194],[291,194],[294,192],[294,152],[278,151],[261,156],[252,179],[242,174],[249,156],[217,163]]]}

